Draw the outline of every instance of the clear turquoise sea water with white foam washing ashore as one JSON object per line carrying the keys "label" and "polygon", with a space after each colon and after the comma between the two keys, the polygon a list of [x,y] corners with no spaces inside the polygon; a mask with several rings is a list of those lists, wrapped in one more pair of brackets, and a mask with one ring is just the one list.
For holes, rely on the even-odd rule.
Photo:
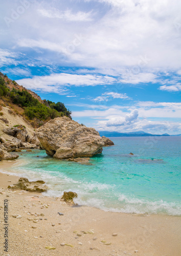
{"label": "clear turquoise sea water with white foam washing ashore", "polygon": [[115,146],[104,147],[90,165],[56,160],[34,150],[22,152],[19,159],[25,161],[13,172],[46,181],[50,187],[44,193],[47,196],[75,191],[75,201],[81,205],[107,211],[180,215],[181,137],[111,139]]}

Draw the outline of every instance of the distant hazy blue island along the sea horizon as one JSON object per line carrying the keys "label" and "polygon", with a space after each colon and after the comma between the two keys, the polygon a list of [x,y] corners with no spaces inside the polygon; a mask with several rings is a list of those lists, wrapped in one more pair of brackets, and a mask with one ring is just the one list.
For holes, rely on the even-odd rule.
{"label": "distant hazy blue island along the sea horizon", "polygon": [[99,134],[100,134],[100,136],[106,136],[106,137],[181,136],[181,134],[169,135],[168,133],[164,133],[164,134],[160,135],[160,134],[145,133],[143,131],[141,131],[141,132],[131,132],[131,133],[100,131]]}

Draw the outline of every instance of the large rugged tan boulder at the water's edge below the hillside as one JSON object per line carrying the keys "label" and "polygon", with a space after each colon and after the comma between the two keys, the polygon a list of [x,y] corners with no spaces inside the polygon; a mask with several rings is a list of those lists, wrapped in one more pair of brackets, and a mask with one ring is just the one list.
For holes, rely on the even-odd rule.
{"label": "large rugged tan boulder at the water's edge below the hillside", "polygon": [[94,128],[88,128],[69,117],[57,117],[36,130],[49,156],[59,159],[92,157],[102,152],[104,142]]}

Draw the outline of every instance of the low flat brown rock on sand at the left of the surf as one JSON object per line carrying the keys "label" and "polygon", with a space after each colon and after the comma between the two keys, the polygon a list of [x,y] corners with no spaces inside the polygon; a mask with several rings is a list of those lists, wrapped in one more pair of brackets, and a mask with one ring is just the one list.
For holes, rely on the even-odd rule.
{"label": "low flat brown rock on sand at the left of the surf", "polygon": [[27,190],[31,192],[45,192],[48,189],[47,185],[44,185],[44,181],[38,180],[38,181],[29,181],[27,178],[20,178],[16,184],[9,185],[8,188],[12,189],[21,189],[21,190]]}

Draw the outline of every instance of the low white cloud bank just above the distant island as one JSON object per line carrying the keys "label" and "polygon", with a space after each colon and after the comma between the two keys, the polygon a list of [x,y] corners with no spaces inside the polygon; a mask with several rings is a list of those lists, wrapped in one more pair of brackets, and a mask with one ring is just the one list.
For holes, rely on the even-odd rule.
{"label": "low white cloud bank just above the distant island", "polygon": [[[181,116],[179,102],[139,101],[132,106],[105,105],[105,108],[100,108],[100,105],[94,105],[93,109],[88,104],[86,106],[88,110],[75,111],[73,117],[98,119],[94,127],[99,131],[181,133],[181,124],[178,122]],[[152,118],[155,120],[150,120]]]}

